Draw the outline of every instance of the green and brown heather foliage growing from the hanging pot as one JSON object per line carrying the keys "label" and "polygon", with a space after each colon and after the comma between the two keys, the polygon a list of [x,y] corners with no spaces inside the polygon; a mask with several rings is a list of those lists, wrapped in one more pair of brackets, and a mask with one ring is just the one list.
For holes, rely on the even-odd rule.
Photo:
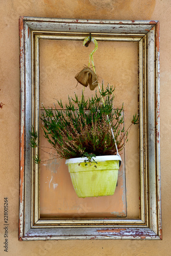
{"label": "green and brown heather foliage growing from the hanging pot", "polygon": [[[137,123],[138,117],[133,116],[132,123],[127,131],[123,125],[123,104],[121,109],[113,109],[114,92],[112,86],[102,89],[89,99],[82,94],[81,99],[75,94],[68,97],[68,103],[63,105],[57,101],[58,109],[45,109],[41,115],[44,136],[57,152],[59,158],[87,157],[93,161],[94,156],[114,155],[116,140],[118,151],[124,147],[132,124]],[[110,121],[109,121],[110,120]],[[34,130],[31,135],[31,145],[36,145]],[[36,158],[36,162],[40,159]]]}

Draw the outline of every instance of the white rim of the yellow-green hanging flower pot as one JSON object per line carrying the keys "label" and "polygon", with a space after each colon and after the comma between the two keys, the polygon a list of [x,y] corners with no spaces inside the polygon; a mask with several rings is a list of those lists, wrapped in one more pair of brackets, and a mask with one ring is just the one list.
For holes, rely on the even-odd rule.
{"label": "white rim of the yellow-green hanging flower pot", "polygon": [[[93,159],[96,162],[103,162],[103,161],[111,161],[111,160],[120,160],[121,158],[119,155],[111,155],[111,156],[96,156],[93,157]],[[88,160],[87,157],[77,157],[77,158],[70,158],[66,160],[66,164],[70,164],[70,163],[82,163],[84,162],[84,160]]]}

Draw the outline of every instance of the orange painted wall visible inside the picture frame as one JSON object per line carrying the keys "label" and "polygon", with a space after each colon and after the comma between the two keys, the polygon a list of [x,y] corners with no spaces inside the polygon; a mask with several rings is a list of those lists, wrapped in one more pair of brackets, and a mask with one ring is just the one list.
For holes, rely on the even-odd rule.
{"label": "orange painted wall visible inside the picture frame", "polygon": [[[82,41],[41,40],[40,41],[40,102],[45,108],[58,106],[56,99],[68,102],[68,95],[81,98],[83,86],[75,75],[89,63],[89,54],[94,44],[83,47]],[[115,87],[114,108],[121,108],[124,102],[125,127],[130,126],[132,117],[138,112],[138,72],[137,42],[101,42],[94,53],[94,65],[101,87],[108,83]],[[99,93],[98,87],[96,88]],[[88,99],[95,91],[84,88]],[[40,145],[45,145],[44,132],[40,129]],[[46,146],[51,147],[49,143]],[[49,151],[44,148],[44,151]],[[49,159],[49,154],[40,151],[41,160]],[[54,151],[52,150],[54,153]],[[126,155],[126,196],[127,218],[139,218],[138,188],[138,125],[133,125],[129,142],[125,147]],[[124,162],[124,156],[121,152]],[[124,163],[123,163],[124,164]],[[109,197],[78,199],[65,161],[48,161],[40,164],[40,214],[57,216],[96,217],[126,216],[125,186],[119,170],[118,186],[115,194]],[[131,172],[130,172],[131,170]],[[125,172],[125,170],[123,170]],[[123,185],[122,185],[123,184]],[[46,196],[45,196],[46,195]],[[86,211],[86,212],[85,212]]]}

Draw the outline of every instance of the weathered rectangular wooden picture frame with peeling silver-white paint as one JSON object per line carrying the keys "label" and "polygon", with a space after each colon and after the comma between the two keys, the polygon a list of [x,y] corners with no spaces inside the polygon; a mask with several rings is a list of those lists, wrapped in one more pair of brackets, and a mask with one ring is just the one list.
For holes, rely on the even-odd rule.
{"label": "weathered rectangular wooden picture frame with peeling silver-white paint", "polygon": [[[39,40],[138,42],[139,179],[138,219],[40,219],[39,166],[29,146],[39,134]],[[20,17],[20,195],[19,240],[162,239],[159,135],[159,22]],[[39,140],[39,138],[38,138]]]}

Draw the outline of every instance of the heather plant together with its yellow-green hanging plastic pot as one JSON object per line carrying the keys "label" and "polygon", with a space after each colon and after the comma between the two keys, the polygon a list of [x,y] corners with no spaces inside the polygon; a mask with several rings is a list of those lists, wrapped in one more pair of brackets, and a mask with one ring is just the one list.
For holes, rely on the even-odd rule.
{"label": "heather plant together with its yellow-green hanging plastic pot", "polygon": [[[135,115],[125,130],[123,123],[123,104],[114,109],[114,88],[99,90],[89,99],[82,93],[81,99],[69,97],[64,106],[57,101],[55,110],[45,109],[41,115],[45,138],[56,151],[57,158],[65,158],[71,180],[78,197],[98,197],[113,195],[117,179],[119,151],[127,142]],[[37,134],[32,130],[31,146],[36,144]],[[36,163],[41,160],[34,158]]]}

